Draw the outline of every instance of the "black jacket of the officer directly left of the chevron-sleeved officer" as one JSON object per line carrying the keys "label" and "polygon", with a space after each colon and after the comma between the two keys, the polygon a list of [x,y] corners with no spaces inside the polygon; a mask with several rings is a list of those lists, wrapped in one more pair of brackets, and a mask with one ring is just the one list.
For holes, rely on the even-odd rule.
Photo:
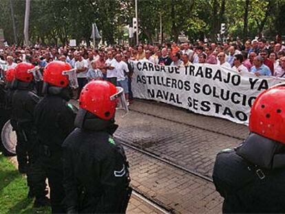
{"label": "black jacket of the officer directly left of the chevron-sleeved officer", "polygon": [[61,145],[74,129],[76,111],[67,103],[65,89],[50,88],[48,94],[36,105],[34,122],[41,145],[50,151],[61,152]]}

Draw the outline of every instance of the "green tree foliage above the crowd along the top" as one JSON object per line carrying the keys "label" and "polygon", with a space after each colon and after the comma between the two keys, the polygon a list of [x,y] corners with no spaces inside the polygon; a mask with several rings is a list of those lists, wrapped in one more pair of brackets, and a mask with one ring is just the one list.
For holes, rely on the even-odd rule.
{"label": "green tree foliage above the crowd along the top", "polygon": [[[137,0],[140,40],[154,42],[160,31],[160,15],[167,39],[177,40],[181,32],[191,40],[215,39],[220,23],[227,34],[249,37],[285,34],[285,0]],[[135,16],[135,0],[31,0],[30,40],[67,43],[69,39],[89,41],[96,22],[103,41],[114,44],[125,38],[124,26]],[[246,2],[249,8],[246,11]],[[12,0],[19,42],[23,41],[25,1]],[[8,43],[14,34],[10,0],[0,1],[0,23]],[[244,23],[247,16],[247,23]],[[246,25],[245,25],[246,24]],[[246,32],[244,32],[246,30]]]}

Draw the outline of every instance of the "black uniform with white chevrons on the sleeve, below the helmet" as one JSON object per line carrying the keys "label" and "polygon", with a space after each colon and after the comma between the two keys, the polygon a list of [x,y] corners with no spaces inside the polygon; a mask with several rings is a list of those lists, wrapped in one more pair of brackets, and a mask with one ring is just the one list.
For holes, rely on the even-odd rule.
{"label": "black uniform with white chevrons on the sleeve, below the helmet", "polygon": [[[115,125],[80,109],[76,128],[63,143],[64,204],[70,213],[125,213],[131,189],[123,147]],[[85,118],[78,125],[78,118]],[[80,120],[80,119],[79,119]]]}

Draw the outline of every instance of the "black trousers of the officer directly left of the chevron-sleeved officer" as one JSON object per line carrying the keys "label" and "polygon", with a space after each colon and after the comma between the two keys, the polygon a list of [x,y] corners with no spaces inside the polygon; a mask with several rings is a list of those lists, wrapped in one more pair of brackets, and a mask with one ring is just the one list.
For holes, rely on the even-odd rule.
{"label": "black trousers of the officer directly left of the chevron-sleeved officer", "polygon": [[52,152],[48,147],[43,146],[41,157],[36,165],[42,168],[48,179],[50,186],[50,202],[52,204],[52,213],[65,213],[63,208],[63,198],[65,192],[63,189],[63,167],[61,163],[61,151]]}

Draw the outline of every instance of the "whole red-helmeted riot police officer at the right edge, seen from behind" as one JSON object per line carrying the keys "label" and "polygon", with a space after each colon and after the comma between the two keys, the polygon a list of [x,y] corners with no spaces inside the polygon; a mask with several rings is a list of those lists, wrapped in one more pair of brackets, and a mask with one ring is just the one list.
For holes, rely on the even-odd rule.
{"label": "whole red-helmeted riot police officer at the right edge, seen from behind", "polygon": [[218,153],[213,182],[224,197],[223,213],[285,211],[285,85],[257,96],[249,137]]}

